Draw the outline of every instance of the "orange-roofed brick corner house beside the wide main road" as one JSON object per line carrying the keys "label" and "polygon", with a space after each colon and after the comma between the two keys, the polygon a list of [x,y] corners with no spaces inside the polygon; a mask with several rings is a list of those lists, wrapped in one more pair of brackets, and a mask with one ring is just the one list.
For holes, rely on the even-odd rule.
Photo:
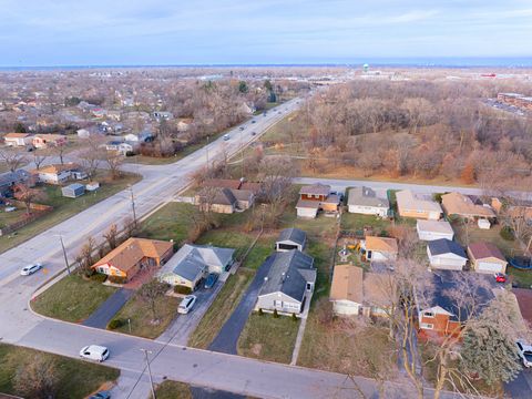
{"label": "orange-roofed brick corner house beside the wide main road", "polygon": [[108,276],[131,279],[142,269],[163,265],[173,253],[173,243],[132,237],[91,267]]}

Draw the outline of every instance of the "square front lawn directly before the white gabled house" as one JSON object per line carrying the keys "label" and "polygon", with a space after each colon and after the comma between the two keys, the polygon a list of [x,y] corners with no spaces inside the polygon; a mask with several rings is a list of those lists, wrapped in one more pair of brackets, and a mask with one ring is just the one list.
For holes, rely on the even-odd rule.
{"label": "square front lawn directly before the white gabled house", "polygon": [[300,320],[253,313],[238,339],[238,355],[289,364]]}

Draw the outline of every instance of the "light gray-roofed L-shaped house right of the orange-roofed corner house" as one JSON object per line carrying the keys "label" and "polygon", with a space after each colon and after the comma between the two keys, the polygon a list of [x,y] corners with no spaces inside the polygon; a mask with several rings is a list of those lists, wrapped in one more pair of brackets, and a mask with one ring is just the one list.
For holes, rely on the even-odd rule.
{"label": "light gray-roofed L-shaped house right of the orange-roofed corner house", "polygon": [[207,274],[228,270],[234,253],[231,248],[185,244],[162,267],[158,279],[194,290]]}

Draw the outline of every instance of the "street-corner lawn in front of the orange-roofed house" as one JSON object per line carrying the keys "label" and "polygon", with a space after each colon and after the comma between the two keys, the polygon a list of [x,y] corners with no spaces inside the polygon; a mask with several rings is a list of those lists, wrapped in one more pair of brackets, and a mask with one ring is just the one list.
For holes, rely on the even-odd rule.
{"label": "street-corner lawn in front of the orange-roofed house", "polygon": [[79,274],[71,274],[39,295],[31,303],[31,307],[43,316],[81,323],[115,290],[114,287],[85,280]]}

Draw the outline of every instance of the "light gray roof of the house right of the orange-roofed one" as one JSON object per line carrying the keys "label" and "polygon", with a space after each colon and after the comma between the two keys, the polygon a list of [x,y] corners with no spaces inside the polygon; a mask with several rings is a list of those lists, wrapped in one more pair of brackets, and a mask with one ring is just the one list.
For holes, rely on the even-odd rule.
{"label": "light gray roof of the house right of the orange-roofed one", "polygon": [[224,268],[233,259],[234,253],[232,248],[185,244],[163,266],[160,275],[173,273],[194,280],[206,266]]}

